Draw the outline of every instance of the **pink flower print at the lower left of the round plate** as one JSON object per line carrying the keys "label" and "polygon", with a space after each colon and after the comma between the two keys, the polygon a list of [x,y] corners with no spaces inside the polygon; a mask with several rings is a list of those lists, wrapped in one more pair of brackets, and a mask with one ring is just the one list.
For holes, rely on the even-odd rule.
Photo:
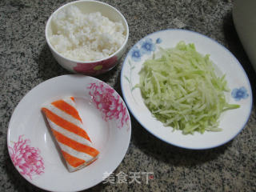
{"label": "pink flower print at the lower left of the round plate", "polygon": [[38,148],[29,145],[29,139],[18,137],[18,142],[14,142],[14,147],[9,146],[10,158],[18,171],[32,179],[35,174],[44,173],[44,164]]}

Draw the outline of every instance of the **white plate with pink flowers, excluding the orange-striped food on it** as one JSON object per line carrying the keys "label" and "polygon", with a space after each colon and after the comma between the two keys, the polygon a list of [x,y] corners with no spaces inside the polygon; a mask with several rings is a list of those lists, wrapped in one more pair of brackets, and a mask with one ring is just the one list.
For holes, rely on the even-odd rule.
{"label": "white plate with pink flowers, excluding the orange-striped food on it", "polygon": [[[73,173],[62,162],[41,113],[43,103],[64,96],[74,96],[86,131],[100,151],[98,160]],[[97,78],[63,75],[42,82],[22,98],[10,119],[7,144],[14,166],[30,183],[44,190],[78,191],[102,182],[118,167],[130,133],[129,112],[114,89]]]}

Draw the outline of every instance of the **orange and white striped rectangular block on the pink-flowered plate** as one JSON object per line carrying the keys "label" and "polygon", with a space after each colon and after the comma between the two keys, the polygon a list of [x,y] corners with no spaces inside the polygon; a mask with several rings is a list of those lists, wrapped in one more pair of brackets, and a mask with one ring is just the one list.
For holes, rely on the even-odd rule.
{"label": "orange and white striped rectangular block on the pink-flowered plate", "polygon": [[82,169],[98,158],[98,150],[92,147],[86,130],[82,129],[82,119],[73,97],[51,102],[42,107],[42,112],[46,115],[70,172]]}

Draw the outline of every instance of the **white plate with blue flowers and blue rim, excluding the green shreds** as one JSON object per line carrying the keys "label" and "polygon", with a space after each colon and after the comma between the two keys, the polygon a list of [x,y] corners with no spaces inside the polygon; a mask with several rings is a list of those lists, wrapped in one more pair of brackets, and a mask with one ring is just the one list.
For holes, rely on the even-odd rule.
{"label": "white plate with blue flowers and blue rim, excluding the green shreds", "polygon": [[[170,48],[178,42],[194,43],[201,54],[210,54],[210,59],[216,64],[218,74],[226,74],[226,80],[231,93],[226,95],[227,101],[241,105],[237,110],[227,110],[220,118],[221,132],[205,132],[194,135],[182,134],[182,131],[172,131],[171,127],[163,126],[156,120],[143,102],[139,88],[134,88],[139,82],[139,71],[147,58],[152,58],[158,47]],[[234,138],[246,125],[252,107],[252,92],[245,71],[229,50],[213,39],[189,30],[161,30],[147,35],[137,42],[126,55],[122,66],[121,86],[123,98],[130,112],[140,124],[154,134],[174,146],[187,149],[209,149],[220,146]],[[171,77],[170,77],[171,78]]]}

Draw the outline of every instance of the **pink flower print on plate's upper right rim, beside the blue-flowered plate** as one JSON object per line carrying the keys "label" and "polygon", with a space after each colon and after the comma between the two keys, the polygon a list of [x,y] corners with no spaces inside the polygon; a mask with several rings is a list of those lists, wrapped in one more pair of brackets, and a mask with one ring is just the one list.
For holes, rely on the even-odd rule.
{"label": "pink flower print on plate's upper right rim, beside the blue-flowered plate", "polygon": [[118,128],[121,128],[129,120],[126,106],[123,105],[121,97],[114,89],[106,86],[103,82],[91,83],[88,88],[93,102],[102,112],[105,121],[117,119],[121,124],[118,125]]}

